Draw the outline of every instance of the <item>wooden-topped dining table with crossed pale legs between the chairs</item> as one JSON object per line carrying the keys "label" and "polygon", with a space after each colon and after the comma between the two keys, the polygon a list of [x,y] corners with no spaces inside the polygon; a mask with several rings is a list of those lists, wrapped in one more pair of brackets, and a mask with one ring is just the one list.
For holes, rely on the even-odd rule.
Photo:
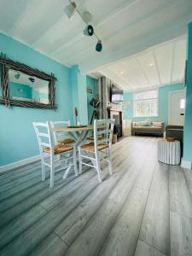
{"label": "wooden-topped dining table with crossed pale legs between the chairs", "polygon": [[[81,143],[83,143],[84,139],[87,137],[89,131],[94,130],[94,125],[77,125],[77,126],[67,126],[67,127],[55,127],[52,129],[52,131],[55,132],[66,132],[69,137],[73,138],[75,143],[73,143],[74,147],[74,154],[73,154],[73,163],[74,163],[74,169],[76,172],[78,172],[78,165],[77,165],[77,148]],[[68,176],[70,170],[65,173],[65,178]]]}

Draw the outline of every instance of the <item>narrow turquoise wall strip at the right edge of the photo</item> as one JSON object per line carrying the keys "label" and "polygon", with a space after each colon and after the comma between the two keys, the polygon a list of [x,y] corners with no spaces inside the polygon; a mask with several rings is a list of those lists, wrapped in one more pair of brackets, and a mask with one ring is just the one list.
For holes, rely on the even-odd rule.
{"label": "narrow turquoise wall strip at the right edge of the photo", "polygon": [[188,73],[183,141],[183,160],[192,162],[192,22],[189,24]]}

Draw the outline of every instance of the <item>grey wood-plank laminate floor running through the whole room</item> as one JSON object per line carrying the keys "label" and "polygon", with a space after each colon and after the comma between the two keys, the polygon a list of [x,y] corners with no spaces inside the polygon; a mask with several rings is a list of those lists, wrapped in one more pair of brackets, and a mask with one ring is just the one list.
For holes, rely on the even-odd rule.
{"label": "grey wood-plank laminate floor running through the whole room", "polygon": [[40,162],[1,174],[0,255],[192,255],[192,172],[159,163],[157,142],[114,144],[102,183],[58,169],[49,189]]}

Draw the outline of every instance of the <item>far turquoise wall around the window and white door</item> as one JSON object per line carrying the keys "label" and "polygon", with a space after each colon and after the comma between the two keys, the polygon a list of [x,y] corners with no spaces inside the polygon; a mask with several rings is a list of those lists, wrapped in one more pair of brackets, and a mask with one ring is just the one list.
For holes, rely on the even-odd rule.
{"label": "far turquoise wall around the window and white door", "polygon": [[[168,99],[169,92],[172,90],[183,90],[183,84],[172,84],[159,88],[159,114],[157,117],[150,118],[152,121],[161,121],[165,123],[165,126],[168,124]],[[125,93],[124,94],[124,104],[125,102],[130,102],[131,108],[125,109],[123,112],[124,119],[132,119],[133,121],[143,121],[146,118],[134,118],[133,117],[133,94]]]}

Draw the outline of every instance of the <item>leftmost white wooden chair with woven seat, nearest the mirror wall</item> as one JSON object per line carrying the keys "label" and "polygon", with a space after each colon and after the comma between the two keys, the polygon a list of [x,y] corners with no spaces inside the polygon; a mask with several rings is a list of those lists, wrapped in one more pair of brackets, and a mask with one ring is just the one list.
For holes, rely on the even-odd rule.
{"label": "leftmost white wooden chair with woven seat, nearest the mirror wall", "polygon": [[[54,177],[55,177],[55,163],[63,163],[67,161],[67,171],[64,173],[63,178],[67,177],[67,173],[70,171],[73,166],[73,147],[70,144],[58,144],[55,145],[53,132],[51,131],[51,125],[49,122],[46,123],[32,123],[35,129],[36,136],[38,138],[38,147],[41,156],[41,165],[42,165],[42,181],[45,180],[45,166],[50,168],[50,183],[49,186],[52,188],[54,186]],[[71,154],[69,154],[71,153]],[[60,158],[57,155],[61,155]],[[78,172],[74,168],[75,174],[78,175]]]}

